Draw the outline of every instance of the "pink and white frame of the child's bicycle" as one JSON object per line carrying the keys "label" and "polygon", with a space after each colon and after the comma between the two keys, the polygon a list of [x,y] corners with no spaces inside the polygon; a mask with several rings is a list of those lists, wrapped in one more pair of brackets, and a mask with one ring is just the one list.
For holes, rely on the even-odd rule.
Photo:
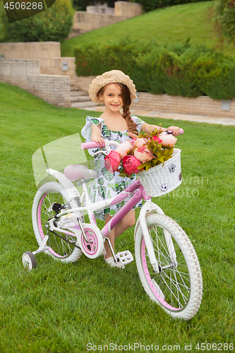
{"label": "pink and white frame of the child's bicycle", "polygon": [[[82,148],[97,148],[97,147],[105,147],[107,152],[110,151],[109,145],[117,145],[116,141],[105,141],[102,145],[99,143],[82,143]],[[73,183],[68,180],[64,174],[61,172],[58,172],[54,169],[47,169],[48,174],[52,174],[56,179],[59,180],[61,185],[64,187],[66,193],[68,194],[69,197],[75,198],[75,197],[80,197],[80,194],[78,193],[78,190],[76,187],[73,185]],[[152,213],[152,212],[157,212],[159,214],[164,215],[163,211],[161,208],[159,208],[158,205],[152,202],[152,199],[150,196],[147,195],[143,185],[140,183],[140,180],[136,180],[128,186],[125,190],[123,190],[119,195],[115,196],[114,198],[109,198],[104,201],[99,201],[97,203],[92,203],[90,201],[90,198],[88,196],[88,189],[87,186],[85,185],[85,180],[82,180],[83,182],[83,192],[85,194],[85,206],[83,207],[76,207],[76,208],[71,208],[70,210],[61,210],[61,212],[57,215],[57,217],[61,217],[63,215],[66,215],[68,213],[79,213],[81,211],[87,211],[90,224],[92,226],[96,227],[96,221],[95,221],[95,211],[100,210],[102,208],[107,208],[110,205],[116,205],[117,203],[120,203],[121,201],[125,200],[126,198],[130,197],[131,198],[123,205],[122,208],[120,208],[116,214],[112,217],[112,219],[101,229],[102,237],[104,239],[107,239],[107,235],[109,232],[121,221],[121,219],[130,211],[134,208],[135,205],[138,204],[139,201],[142,199],[145,201],[143,207],[140,210],[140,216],[138,218],[138,221],[136,222],[135,225],[135,232],[138,228],[138,225],[140,224],[140,227],[143,232],[143,237],[145,239],[145,245],[147,248],[147,253],[150,258],[150,263],[152,264],[152,268],[155,271],[155,273],[159,273],[159,266],[157,263],[157,259],[155,256],[155,251],[152,246],[152,240],[150,238],[147,225],[146,225],[146,215]],[[61,232],[61,228],[56,228],[53,225],[53,220],[50,222],[50,229],[52,230],[57,230]],[[77,237],[80,237],[80,232],[83,233],[82,229],[83,225],[80,223],[79,226],[77,225],[76,227],[73,227],[70,229],[74,234],[76,234]],[[100,229],[99,229],[100,230]],[[65,234],[72,234],[71,232],[66,231],[65,229],[62,231]],[[73,235],[74,235],[73,234]],[[176,256],[174,252],[174,246],[171,241],[171,237],[168,232],[164,231],[164,237],[166,238],[168,248],[169,248],[169,253],[171,253],[171,261],[176,264]],[[110,244],[109,244],[110,246]]]}

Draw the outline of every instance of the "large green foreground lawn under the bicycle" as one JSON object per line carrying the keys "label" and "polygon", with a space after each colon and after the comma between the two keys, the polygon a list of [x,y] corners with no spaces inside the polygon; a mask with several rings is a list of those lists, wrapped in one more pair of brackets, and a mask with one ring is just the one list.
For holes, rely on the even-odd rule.
{"label": "large green foreground lawn under the bicycle", "polygon": [[[190,321],[174,320],[150,301],[135,262],[117,270],[109,269],[102,258],[82,256],[77,263],[64,264],[40,253],[35,270],[23,268],[23,252],[37,249],[31,220],[37,191],[32,154],[80,132],[88,114],[99,116],[59,109],[0,83],[0,352],[77,353],[86,352],[88,343],[97,351],[99,345],[141,343],[160,349],[180,345],[180,352],[191,344],[191,352],[199,352],[198,343],[233,343],[234,126],[143,118],[184,129],[177,141],[183,183],[154,201],[179,222],[198,254],[203,301]],[[116,241],[116,251],[126,249],[134,253],[133,228]],[[224,347],[220,350],[232,351]]]}

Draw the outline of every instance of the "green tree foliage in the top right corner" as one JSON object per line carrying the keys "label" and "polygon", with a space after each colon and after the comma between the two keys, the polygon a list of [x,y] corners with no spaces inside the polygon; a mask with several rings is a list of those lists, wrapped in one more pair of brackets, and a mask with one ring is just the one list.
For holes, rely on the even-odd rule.
{"label": "green tree foliage in the top right corner", "polygon": [[222,37],[235,42],[235,1],[217,0],[214,10],[214,19],[221,29]]}

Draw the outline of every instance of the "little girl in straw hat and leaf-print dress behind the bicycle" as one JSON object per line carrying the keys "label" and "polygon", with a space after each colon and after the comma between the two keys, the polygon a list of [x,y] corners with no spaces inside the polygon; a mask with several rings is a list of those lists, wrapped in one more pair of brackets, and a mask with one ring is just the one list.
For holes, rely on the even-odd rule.
{"label": "little girl in straw hat and leaf-print dress behind the bicycle", "polygon": [[[102,143],[105,139],[116,140],[121,143],[122,141],[131,139],[128,136],[129,132],[133,133],[134,131],[139,132],[141,130],[150,133],[150,131],[155,130],[155,128],[157,128],[158,131],[171,130],[174,136],[179,135],[179,127],[169,126],[169,128],[160,128],[157,125],[147,124],[137,116],[131,115],[129,107],[131,102],[136,98],[135,92],[133,80],[119,70],[107,71],[103,73],[102,76],[97,76],[95,80],[92,80],[89,90],[90,98],[93,102],[103,103],[105,110],[100,118],[87,116],[86,124],[81,131],[86,142],[95,141]],[[120,112],[121,108],[123,109],[123,114]],[[112,146],[112,148],[113,147],[114,146]],[[97,149],[90,150],[89,152],[92,155],[95,151],[97,151]],[[128,178],[119,177],[118,172],[114,172],[114,174],[108,172],[104,166],[104,155],[102,153],[95,156],[95,169],[97,179],[93,179],[89,187],[92,202],[112,198],[135,181],[135,174],[133,174],[131,178]],[[106,224],[111,220],[114,213],[127,201],[128,198],[118,205],[100,210],[100,213],[97,213],[96,217],[102,220],[105,219]],[[139,203],[136,206],[140,207],[141,205],[142,204]],[[133,209],[123,217],[119,224],[109,233],[108,238],[111,241],[113,249],[114,239],[134,224],[135,210]],[[105,241],[104,247],[106,249],[104,257],[105,262],[112,267],[124,268],[125,266],[121,262],[114,262],[107,241]]]}

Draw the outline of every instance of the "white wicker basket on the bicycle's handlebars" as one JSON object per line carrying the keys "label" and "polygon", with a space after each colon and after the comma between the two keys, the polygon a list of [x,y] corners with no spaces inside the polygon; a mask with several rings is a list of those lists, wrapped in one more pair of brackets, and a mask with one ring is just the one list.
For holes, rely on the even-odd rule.
{"label": "white wicker basket on the bicycle's handlebars", "polygon": [[181,150],[175,148],[172,157],[164,165],[159,164],[148,171],[138,172],[136,177],[149,196],[162,196],[176,189],[182,182]]}

